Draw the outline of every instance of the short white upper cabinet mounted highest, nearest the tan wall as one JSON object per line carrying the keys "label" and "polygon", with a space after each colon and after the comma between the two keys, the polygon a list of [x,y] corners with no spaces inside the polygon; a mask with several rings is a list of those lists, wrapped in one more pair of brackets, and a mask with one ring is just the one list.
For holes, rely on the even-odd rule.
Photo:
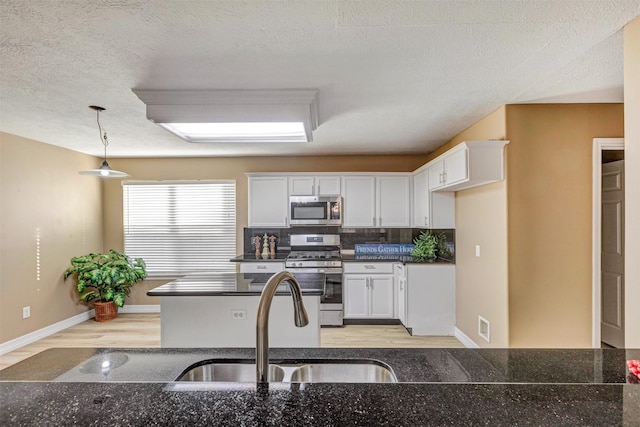
{"label": "short white upper cabinet mounted highest, nearest the tan wall", "polygon": [[462,142],[429,163],[429,189],[459,191],[504,179],[509,141]]}

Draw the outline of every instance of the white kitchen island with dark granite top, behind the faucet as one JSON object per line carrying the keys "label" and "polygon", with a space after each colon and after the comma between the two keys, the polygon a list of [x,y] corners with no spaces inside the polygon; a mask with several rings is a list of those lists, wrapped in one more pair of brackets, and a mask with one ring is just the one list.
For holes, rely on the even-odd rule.
{"label": "white kitchen island with dark granite top, behind the faucet", "polygon": [[[147,295],[160,297],[162,347],[255,347],[260,293],[271,277],[264,273],[190,274]],[[323,274],[296,276],[309,324],[297,328],[289,286],[283,282],[271,304],[270,344],[320,346],[320,297]]]}

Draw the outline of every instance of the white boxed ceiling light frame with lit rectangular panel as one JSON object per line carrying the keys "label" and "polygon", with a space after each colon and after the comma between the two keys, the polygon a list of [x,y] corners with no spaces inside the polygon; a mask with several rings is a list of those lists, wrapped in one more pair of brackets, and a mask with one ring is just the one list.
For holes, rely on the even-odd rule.
{"label": "white boxed ceiling light frame with lit rectangular panel", "polygon": [[[318,90],[146,90],[133,92],[147,106],[147,119],[188,142],[311,142],[318,127]],[[300,123],[300,130],[238,135],[189,134],[173,124]],[[247,125],[248,128],[248,125]]]}

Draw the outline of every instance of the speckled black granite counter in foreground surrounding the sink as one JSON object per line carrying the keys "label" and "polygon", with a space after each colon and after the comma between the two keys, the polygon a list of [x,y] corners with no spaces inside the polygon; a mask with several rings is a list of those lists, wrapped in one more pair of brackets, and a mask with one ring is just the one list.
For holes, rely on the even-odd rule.
{"label": "speckled black granite counter in foreground surrounding the sink", "polygon": [[[638,425],[640,350],[271,349],[376,359],[398,384],[174,383],[252,349],[51,349],[0,371],[0,425]],[[108,360],[112,369],[102,373]]]}

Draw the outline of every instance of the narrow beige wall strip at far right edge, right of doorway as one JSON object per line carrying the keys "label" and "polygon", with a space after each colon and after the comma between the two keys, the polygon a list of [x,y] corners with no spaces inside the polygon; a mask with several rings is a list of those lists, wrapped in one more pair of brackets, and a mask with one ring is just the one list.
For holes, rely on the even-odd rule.
{"label": "narrow beige wall strip at far right edge, right of doorway", "polygon": [[640,348],[640,18],[624,29],[625,347]]}

